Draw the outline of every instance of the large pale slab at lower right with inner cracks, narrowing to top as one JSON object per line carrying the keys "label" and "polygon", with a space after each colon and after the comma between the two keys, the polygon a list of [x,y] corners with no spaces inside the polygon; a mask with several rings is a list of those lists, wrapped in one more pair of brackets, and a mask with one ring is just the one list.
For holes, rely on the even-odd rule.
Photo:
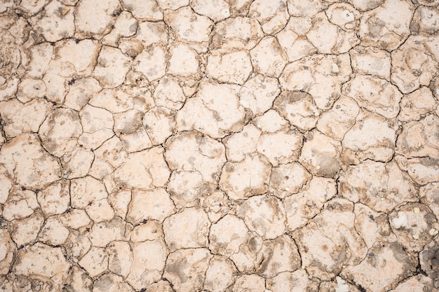
{"label": "large pale slab at lower right with inner cracks, narrowing to top", "polygon": [[293,232],[307,272],[329,280],[344,265],[358,265],[363,260],[367,248],[353,227],[354,219],[353,204],[334,199],[311,223]]}

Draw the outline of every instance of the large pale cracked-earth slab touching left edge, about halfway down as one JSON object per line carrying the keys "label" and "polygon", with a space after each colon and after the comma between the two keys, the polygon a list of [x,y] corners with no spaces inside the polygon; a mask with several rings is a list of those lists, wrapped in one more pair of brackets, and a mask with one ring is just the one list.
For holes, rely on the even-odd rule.
{"label": "large pale cracked-earth slab touching left edge, about halfway down", "polygon": [[44,150],[36,134],[21,134],[4,144],[0,163],[17,183],[28,188],[42,188],[61,176],[58,160]]}

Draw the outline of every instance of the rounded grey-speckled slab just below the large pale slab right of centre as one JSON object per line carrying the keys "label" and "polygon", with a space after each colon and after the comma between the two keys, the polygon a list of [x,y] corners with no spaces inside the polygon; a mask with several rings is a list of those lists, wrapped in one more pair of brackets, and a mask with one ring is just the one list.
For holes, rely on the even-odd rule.
{"label": "rounded grey-speckled slab just below the large pale slab right of centre", "polygon": [[285,210],[277,197],[250,197],[238,206],[236,214],[263,239],[274,239],[285,232]]}

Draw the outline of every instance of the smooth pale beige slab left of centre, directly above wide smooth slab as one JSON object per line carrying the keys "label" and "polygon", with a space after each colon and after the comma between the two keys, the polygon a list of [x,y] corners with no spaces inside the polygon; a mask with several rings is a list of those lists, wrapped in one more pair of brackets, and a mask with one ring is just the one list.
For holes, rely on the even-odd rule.
{"label": "smooth pale beige slab left of centre, directly above wide smooth slab", "polygon": [[130,153],[123,164],[114,172],[114,181],[128,188],[152,189],[165,186],[170,170],[160,146]]}

